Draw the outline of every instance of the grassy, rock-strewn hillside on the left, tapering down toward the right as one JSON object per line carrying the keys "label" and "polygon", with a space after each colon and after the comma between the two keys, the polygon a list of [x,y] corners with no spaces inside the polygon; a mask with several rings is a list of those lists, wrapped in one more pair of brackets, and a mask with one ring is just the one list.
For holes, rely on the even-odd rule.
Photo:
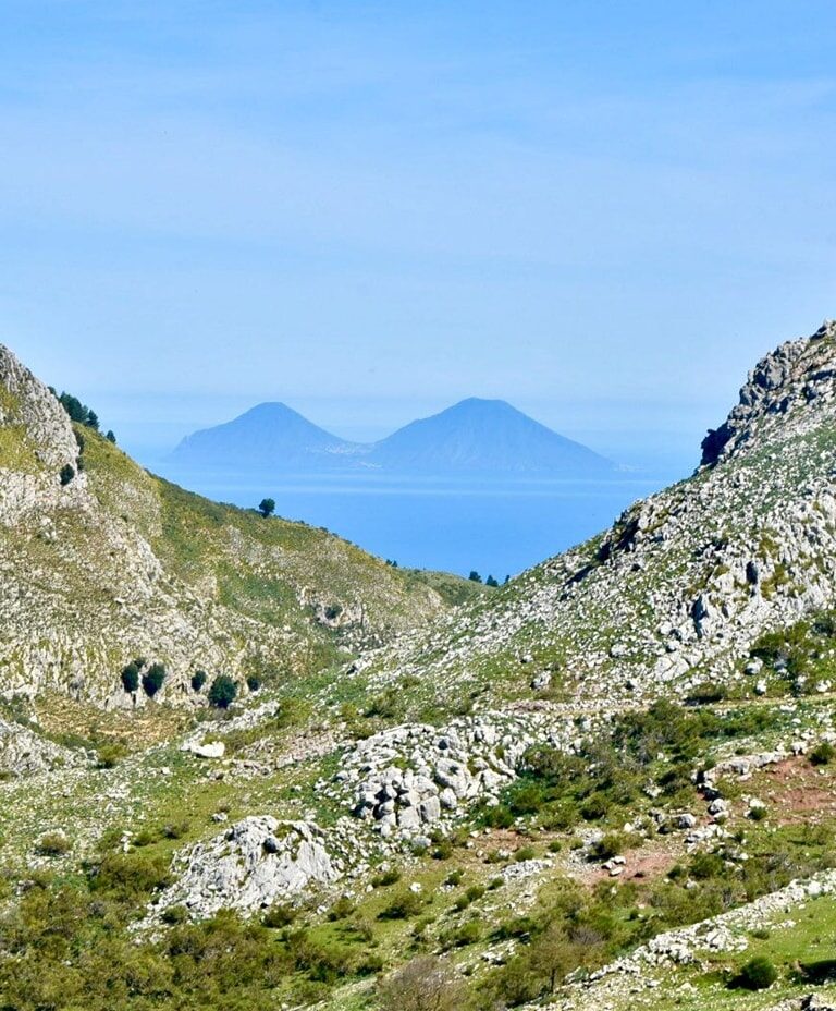
{"label": "grassy, rock-strewn hillside on the left, tapering down toward the right", "polygon": [[[0,690],[52,686],[143,704],[121,672],[263,681],[382,642],[438,614],[441,596],[323,531],[208,502],[73,426],[0,348]],[[128,685],[130,687],[130,685]]]}

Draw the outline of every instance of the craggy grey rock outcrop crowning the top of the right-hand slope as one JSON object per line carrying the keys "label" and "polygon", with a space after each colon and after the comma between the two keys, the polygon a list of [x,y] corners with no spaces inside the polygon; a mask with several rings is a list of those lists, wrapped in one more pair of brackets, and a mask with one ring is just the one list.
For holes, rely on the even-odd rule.
{"label": "craggy grey rock outcrop crowning the top of the right-hand slope", "polygon": [[726,421],[703,439],[701,465],[714,466],[732,456],[762,429],[772,429],[775,418],[831,402],[836,392],[834,380],[836,320],[827,319],[810,337],[786,341],[761,358]]}

